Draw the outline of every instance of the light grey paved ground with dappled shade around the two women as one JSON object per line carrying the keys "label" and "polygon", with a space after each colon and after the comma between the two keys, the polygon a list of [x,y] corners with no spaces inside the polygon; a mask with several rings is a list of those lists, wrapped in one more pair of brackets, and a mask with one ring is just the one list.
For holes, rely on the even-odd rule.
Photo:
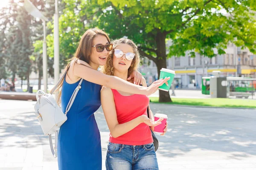
{"label": "light grey paved ground with dappled shade around the two women", "polygon": [[[0,170],[57,170],[47,136],[34,115],[35,102],[0,100]],[[168,114],[169,130],[160,141],[160,170],[256,170],[256,111],[151,104]],[[102,137],[102,162],[108,127],[102,109],[95,113]]]}

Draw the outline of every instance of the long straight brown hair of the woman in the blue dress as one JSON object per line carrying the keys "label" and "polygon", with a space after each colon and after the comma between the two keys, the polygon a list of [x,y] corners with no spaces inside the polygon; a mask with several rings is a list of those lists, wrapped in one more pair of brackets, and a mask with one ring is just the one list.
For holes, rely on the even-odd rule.
{"label": "long straight brown hair of the woman in the blue dress", "polygon": [[[90,54],[92,53],[92,45],[93,45],[93,39],[96,37],[96,35],[103,35],[107,38],[108,42],[110,43],[110,39],[108,35],[98,28],[91,28],[88,29],[83,36],[81,37],[81,40],[79,41],[78,48],[76,49],[76,52],[74,56],[69,59],[67,66],[65,67],[64,71],[67,71],[67,69],[70,67],[71,62],[74,61],[74,65],[77,62],[78,59],[83,60],[87,63],[90,61]],[[67,75],[68,76],[68,75]],[[61,80],[61,83],[58,85],[55,91],[59,91],[63,85],[64,78]],[[57,97],[58,105],[61,104],[61,91],[58,94]]]}

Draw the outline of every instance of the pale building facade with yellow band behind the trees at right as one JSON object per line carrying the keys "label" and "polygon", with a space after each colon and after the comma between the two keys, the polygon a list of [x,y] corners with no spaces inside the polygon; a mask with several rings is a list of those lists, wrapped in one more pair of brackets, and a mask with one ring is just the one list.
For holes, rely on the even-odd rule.
{"label": "pale building facade with yellow band behind the trees at right", "polygon": [[[214,50],[217,54],[217,49]],[[167,59],[167,68],[174,64],[176,88],[201,88],[202,77],[212,75],[212,71],[221,71],[221,77],[252,77],[256,78],[256,55],[248,49],[241,49],[233,44],[227,46],[226,54],[208,58],[200,54],[190,57],[171,57]],[[148,59],[143,60],[140,71],[145,74],[148,84],[157,78],[156,64]]]}

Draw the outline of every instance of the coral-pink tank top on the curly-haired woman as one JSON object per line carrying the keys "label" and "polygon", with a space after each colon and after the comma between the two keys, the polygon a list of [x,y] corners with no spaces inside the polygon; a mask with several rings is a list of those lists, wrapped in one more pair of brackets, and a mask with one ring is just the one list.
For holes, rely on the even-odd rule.
{"label": "coral-pink tank top on the curly-haired woman", "polygon": [[[119,124],[129,122],[143,114],[147,114],[149,98],[145,95],[133,94],[131,96],[123,96],[118,91],[111,89],[116,105],[116,115]],[[109,142],[127,145],[143,145],[153,142],[151,130],[148,125],[141,123],[133,130],[113,138],[110,134]]]}

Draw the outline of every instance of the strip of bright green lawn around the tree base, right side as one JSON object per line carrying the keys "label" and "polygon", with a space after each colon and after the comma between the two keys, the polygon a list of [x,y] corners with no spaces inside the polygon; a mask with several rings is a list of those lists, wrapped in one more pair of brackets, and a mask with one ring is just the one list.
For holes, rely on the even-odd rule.
{"label": "strip of bright green lawn around the tree base, right side", "polygon": [[[151,102],[159,103],[158,97],[149,97]],[[226,108],[256,108],[256,100],[250,99],[180,99],[172,98],[172,102],[164,102],[166,104],[175,105],[192,105],[192,106],[212,106]]]}

